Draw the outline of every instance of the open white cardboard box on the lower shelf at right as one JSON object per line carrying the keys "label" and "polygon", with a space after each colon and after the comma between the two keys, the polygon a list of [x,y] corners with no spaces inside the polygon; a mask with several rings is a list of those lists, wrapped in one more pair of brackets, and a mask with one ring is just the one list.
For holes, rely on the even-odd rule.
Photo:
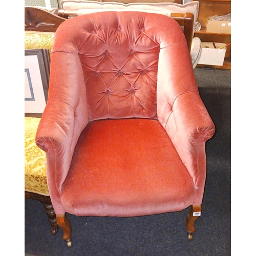
{"label": "open white cardboard box on the lower shelf at right", "polygon": [[219,48],[225,45],[215,42],[215,48],[213,42],[201,42],[202,52],[198,64],[222,66],[227,48]]}

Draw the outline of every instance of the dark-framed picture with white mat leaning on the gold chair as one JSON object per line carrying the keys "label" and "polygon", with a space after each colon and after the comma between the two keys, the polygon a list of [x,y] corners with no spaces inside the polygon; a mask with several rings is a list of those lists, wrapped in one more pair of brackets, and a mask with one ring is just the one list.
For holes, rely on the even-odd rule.
{"label": "dark-framed picture with white mat leaning on the gold chair", "polygon": [[48,99],[50,52],[25,50],[25,116],[40,117]]}

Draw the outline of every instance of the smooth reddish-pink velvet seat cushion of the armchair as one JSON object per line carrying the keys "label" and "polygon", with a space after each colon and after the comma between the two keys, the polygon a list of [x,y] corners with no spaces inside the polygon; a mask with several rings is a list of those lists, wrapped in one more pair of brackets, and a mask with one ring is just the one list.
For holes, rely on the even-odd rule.
{"label": "smooth reddish-pink velvet seat cushion of the armchair", "polygon": [[82,131],[61,202],[77,216],[143,216],[191,205],[194,183],[156,119],[106,119]]}

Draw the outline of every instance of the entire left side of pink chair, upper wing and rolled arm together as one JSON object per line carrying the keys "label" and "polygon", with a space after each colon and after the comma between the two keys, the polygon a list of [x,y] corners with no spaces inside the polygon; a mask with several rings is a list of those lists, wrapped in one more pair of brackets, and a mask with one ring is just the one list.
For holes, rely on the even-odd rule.
{"label": "entire left side of pink chair, upper wing and rolled arm together", "polygon": [[63,214],[61,185],[87,123],[87,95],[79,56],[53,52],[48,102],[38,125],[36,144],[46,152],[47,182],[56,214]]}

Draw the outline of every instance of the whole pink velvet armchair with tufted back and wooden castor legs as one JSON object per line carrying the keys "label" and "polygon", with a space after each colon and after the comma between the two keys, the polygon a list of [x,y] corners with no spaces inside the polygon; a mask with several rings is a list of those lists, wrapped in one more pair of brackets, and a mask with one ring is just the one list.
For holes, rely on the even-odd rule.
{"label": "whole pink velvet armchair with tufted back and wooden castor legs", "polygon": [[63,240],[76,216],[201,215],[205,142],[214,135],[185,36],[144,12],[74,17],[57,29],[36,135]]}

